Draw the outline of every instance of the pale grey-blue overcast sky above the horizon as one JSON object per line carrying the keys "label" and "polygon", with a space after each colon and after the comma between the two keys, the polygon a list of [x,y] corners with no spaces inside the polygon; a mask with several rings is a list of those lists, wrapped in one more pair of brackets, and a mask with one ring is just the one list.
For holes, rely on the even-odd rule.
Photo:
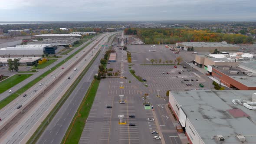
{"label": "pale grey-blue overcast sky above the horizon", "polygon": [[256,0],[0,0],[0,21],[256,20]]}

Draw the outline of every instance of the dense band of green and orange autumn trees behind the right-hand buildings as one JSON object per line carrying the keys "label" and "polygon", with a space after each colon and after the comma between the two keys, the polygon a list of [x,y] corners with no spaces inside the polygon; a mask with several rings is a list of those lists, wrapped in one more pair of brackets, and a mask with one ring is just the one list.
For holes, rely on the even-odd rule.
{"label": "dense band of green and orange autumn trees behind the right-hand buildings", "polygon": [[175,44],[178,42],[253,43],[253,37],[241,34],[214,33],[210,30],[175,28],[126,28],[126,35],[137,35],[145,44]]}

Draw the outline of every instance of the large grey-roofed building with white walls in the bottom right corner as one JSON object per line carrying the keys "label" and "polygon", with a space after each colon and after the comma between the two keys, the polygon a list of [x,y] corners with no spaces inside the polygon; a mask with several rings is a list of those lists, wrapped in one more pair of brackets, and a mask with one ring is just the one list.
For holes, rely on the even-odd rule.
{"label": "large grey-roofed building with white walls in the bottom right corner", "polygon": [[172,91],[168,105],[190,144],[256,141],[256,91]]}

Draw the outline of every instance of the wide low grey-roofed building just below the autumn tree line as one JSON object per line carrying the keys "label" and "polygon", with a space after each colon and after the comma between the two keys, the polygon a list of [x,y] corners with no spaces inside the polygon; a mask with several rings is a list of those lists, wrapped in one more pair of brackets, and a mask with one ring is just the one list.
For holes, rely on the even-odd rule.
{"label": "wide low grey-roofed building just below the autumn tree line", "polygon": [[187,50],[187,48],[194,47],[194,51],[214,51],[218,49],[219,51],[238,51],[239,46],[234,44],[228,44],[226,42],[220,43],[207,43],[207,42],[182,42],[176,43],[176,46],[181,49]]}

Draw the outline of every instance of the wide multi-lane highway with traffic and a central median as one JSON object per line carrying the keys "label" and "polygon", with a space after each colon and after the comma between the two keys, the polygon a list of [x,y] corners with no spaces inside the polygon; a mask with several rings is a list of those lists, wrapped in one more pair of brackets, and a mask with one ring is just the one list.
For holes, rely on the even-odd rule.
{"label": "wide multi-lane highway with traffic and a central median", "polygon": [[[108,38],[105,37],[108,34],[103,34],[102,36],[99,36],[98,43],[108,41]],[[102,41],[99,41],[99,39],[101,38],[103,38]],[[23,95],[19,96],[0,111],[0,117],[2,118],[0,126],[2,127],[3,124],[6,124],[8,121],[10,121],[15,115],[22,111],[22,109],[26,105],[28,105],[34,98],[36,98],[36,96],[38,96],[40,93],[46,90],[48,86],[50,86],[49,88],[51,90],[46,91],[44,97],[36,105],[34,105],[33,108],[30,109],[30,112],[24,115],[23,118],[13,126],[13,128],[11,128],[3,137],[1,137],[0,143],[25,143],[28,140],[28,132],[31,133],[32,131],[36,130],[36,128],[34,127],[35,124],[39,122],[40,118],[43,118],[43,116],[46,116],[49,111],[51,111],[51,108],[53,108],[56,102],[59,101],[59,98],[61,98],[61,96],[66,92],[69,86],[75,81],[79,73],[82,72],[82,70],[86,67],[86,65],[88,65],[90,60],[95,56],[95,53],[100,50],[100,46],[98,46],[98,49],[94,49],[93,45],[94,44],[91,43],[85,48],[84,52],[79,52],[68,62],[64,63],[61,67],[53,71],[51,75],[46,76],[33,88],[30,88],[26,92],[26,97],[23,97]],[[83,57],[87,51],[89,52],[89,54]],[[86,59],[86,61],[84,59]],[[73,64],[75,64],[75,66],[72,67],[72,69],[69,69],[69,67]],[[64,69],[61,69],[62,67]],[[74,71],[74,68],[77,68],[77,70]],[[61,78],[61,75],[65,76]],[[56,85],[50,85],[51,83],[56,81],[56,79],[53,78],[54,76],[56,76],[56,79],[59,78],[59,82],[56,83]],[[68,79],[68,77],[71,77],[71,79]],[[39,86],[39,83],[43,83],[43,85]],[[47,83],[46,86],[44,86],[45,83]],[[35,89],[37,91],[33,92],[33,90]],[[23,107],[17,109],[16,107],[18,105],[23,105]]]}

